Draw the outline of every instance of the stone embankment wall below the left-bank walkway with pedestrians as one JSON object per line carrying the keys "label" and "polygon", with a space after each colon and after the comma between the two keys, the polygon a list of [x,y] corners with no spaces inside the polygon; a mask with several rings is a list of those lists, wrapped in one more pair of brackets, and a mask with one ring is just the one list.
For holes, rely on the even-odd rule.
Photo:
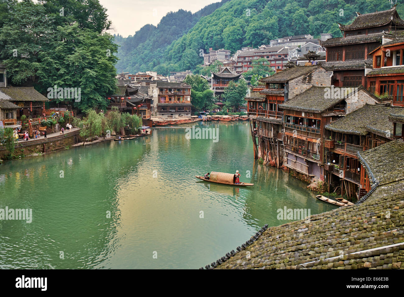
{"label": "stone embankment wall below the left-bank walkway with pedestrians", "polygon": [[[35,153],[49,153],[62,150],[67,146],[83,141],[80,138],[80,130],[68,134],[62,134],[52,138],[41,138],[33,141],[19,142],[15,146],[15,155],[30,155]],[[0,147],[0,159],[8,154],[8,150]]]}

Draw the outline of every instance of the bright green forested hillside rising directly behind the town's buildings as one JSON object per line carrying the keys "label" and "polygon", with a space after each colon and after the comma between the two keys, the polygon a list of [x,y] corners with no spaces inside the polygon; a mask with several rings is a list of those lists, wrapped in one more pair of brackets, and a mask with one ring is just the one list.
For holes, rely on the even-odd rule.
{"label": "bright green forested hillside rising directly behind the town's buildings", "polygon": [[[398,1],[398,12],[404,17],[402,2]],[[187,34],[178,34],[181,37],[169,46],[160,47],[164,51],[150,51],[156,39],[147,39],[131,52],[128,44],[129,50],[120,53],[122,60],[117,69],[154,70],[161,74],[194,70],[202,64],[201,49],[206,53],[210,47],[226,48],[234,53],[242,46],[256,47],[283,36],[311,34],[318,38],[320,33],[332,33],[339,37],[337,23],[350,23],[356,11],[370,13],[390,7],[388,0],[231,0],[202,17]],[[140,36],[145,35],[144,32],[134,38],[143,40],[146,37]],[[129,52],[131,55],[126,54]]]}

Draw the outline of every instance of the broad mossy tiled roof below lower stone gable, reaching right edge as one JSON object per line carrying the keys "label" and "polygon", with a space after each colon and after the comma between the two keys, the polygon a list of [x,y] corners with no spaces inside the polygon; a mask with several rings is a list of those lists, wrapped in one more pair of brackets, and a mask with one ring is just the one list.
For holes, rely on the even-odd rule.
{"label": "broad mossy tiled roof below lower stone gable, reaching right edge", "polygon": [[404,107],[393,107],[384,105],[365,104],[363,107],[347,114],[343,118],[325,126],[327,130],[339,133],[366,135],[369,130],[372,132],[387,135],[391,131],[393,135],[393,124],[389,121],[389,114],[404,112]]}

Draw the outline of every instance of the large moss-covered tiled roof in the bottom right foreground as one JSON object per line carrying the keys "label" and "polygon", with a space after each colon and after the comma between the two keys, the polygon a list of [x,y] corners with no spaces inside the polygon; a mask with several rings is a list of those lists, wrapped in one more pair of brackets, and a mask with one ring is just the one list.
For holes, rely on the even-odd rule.
{"label": "large moss-covered tiled roof in the bottom right foreground", "polygon": [[404,268],[403,215],[404,193],[383,195],[375,191],[362,204],[261,229],[257,239],[239,246],[237,252],[227,253],[215,266],[218,269]]}

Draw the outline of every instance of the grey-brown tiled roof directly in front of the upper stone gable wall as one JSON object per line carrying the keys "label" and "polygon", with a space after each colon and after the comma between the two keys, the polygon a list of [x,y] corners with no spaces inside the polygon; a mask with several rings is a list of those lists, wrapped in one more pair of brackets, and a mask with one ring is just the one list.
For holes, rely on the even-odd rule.
{"label": "grey-brown tiled roof directly in front of the upper stone gable wall", "polygon": [[280,104],[284,110],[299,110],[305,112],[323,112],[338,102],[342,101],[343,98],[326,98],[326,86],[312,86],[303,93],[293,97],[292,99]]}

